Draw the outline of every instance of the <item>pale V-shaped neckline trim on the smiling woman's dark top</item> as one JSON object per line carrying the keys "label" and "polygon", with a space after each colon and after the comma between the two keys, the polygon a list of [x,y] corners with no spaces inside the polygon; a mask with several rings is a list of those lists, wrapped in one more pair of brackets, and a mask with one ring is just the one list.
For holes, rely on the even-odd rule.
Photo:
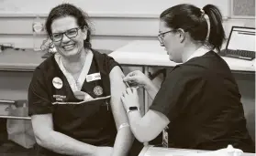
{"label": "pale V-shaped neckline trim on the smiling woman's dark top", "polygon": [[85,57],[85,61],[83,64],[83,68],[82,71],[78,77],[78,80],[76,81],[72,74],[70,72],[68,72],[66,70],[66,68],[64,68],[63,66],[63,62],[61,61],[61,55],[60,54],[56,54],[54,56],[55,61],[57,62],[59,68],[61,69],[63,75],[67,78],[68,83],[70,84],[70,87],[72,88],[72,92],[75,91],[81,91],[82,87],[83,87],[83,82],[89,72],[89,69],[91,68],[92,62],[93,62],[93,57],[94,54],[91,50],[87,51],[86,57]]}

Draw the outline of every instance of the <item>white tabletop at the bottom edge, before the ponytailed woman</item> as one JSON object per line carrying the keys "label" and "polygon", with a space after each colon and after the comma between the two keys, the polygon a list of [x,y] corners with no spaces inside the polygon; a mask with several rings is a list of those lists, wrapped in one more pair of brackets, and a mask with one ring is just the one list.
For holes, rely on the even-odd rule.
{"label": "white tabletop at the bottom edge, before the ponytailed woman", "polygon": [[[139,156],[185,156],[192,153],[203,153],[207,151],[190,150],[190,149],[173,149],[173,148],[160,148],[145,146],[142,151],[139,152]],[[255,153],[244,152],[241,156],[255,156]]]}

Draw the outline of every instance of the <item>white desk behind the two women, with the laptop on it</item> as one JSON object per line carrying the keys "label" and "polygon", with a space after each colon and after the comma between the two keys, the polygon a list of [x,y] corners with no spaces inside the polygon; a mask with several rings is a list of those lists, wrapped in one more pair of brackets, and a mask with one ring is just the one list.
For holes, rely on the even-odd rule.
{"label": "white desk behind the two women, with the laptop on it", "polygon": [[[170,61],[164,47],[160,46],[157,40],[136,40],[129,43],[127,46],[120,47],[112,52],[110,57],[122,66],[137,66],[141,67],[144,74],[149,76],[150,67],[173,68],[177,63]],[[255,59],[252,61],[223,57],[228,63],[229,68],[233,72],[255,73]],[[144,90],[145,112],[149,109],[148,94]]]}

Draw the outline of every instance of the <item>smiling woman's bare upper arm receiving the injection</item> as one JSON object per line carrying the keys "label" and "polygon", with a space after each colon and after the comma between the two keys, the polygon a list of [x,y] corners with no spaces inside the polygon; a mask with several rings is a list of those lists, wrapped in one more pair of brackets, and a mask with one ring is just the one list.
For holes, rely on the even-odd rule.
{"label": "smiling woman's bare upper arm receiving the injection", "polygon": [[111,86],[111,108],[116,121],[117,128],[125,122],[128,122],[126,111],[121,101],[121,95],[126,90],[123,82],[124,74],[118,66],[112,68],[109,78]]}

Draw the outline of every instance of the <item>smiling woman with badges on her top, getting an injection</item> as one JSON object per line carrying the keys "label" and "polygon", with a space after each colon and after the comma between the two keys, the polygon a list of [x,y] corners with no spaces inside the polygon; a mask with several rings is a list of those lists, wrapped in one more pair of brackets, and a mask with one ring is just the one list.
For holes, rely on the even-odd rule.
{"label": "smiling woman with badges on her top, getting an injection", "polygon": [[127,155],[133,136],[120,99],[124,75],[91,47],[88,17],[61,4],[50,11],[46,30],[57,53],[36,68],[28,88],[39,154]]}

